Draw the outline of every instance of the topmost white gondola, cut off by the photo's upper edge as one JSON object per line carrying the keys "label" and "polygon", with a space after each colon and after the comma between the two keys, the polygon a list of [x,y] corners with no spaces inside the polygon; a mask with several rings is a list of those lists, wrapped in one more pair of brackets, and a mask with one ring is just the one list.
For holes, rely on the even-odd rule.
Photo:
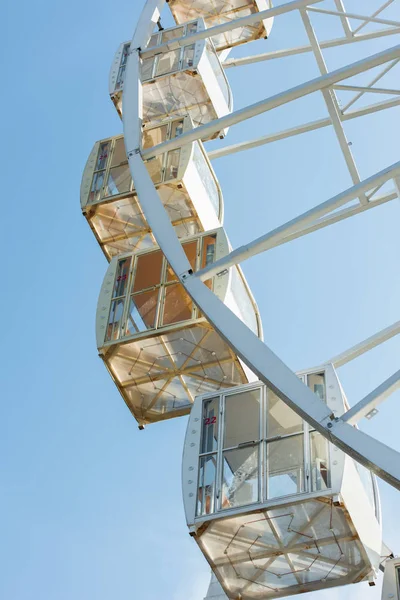
{"label": "topmost white gondola, cut off by the photo's upper edge", "polygon": [[[207,28],[247,17],[256,12],[271,8],[270,0],[169,0],[169,7],[176,23],[185,23],[191,19],[202,17]],[[273,18],[264,19],[254,25],[247,25],[227,31],[212,37],[217,51],[226,50],[239,44],[252,42],[269,36],[272,28]]]}

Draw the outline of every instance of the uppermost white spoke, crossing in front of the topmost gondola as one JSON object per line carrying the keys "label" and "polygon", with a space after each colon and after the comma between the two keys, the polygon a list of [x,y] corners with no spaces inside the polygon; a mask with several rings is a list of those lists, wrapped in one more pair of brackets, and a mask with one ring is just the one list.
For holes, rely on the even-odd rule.
{"label": "uppermost white spoke, crossing in front of the topmost gondola", "polygon": [[[164,0],[165,1],[165,0]],[[241,27],[247,27],[248,25],[253,25],[253,23],[259,23],[264,19],[270,19],[272,17],[277,17],[278,15],[283,15],[285,13],[291,12],[293,10],[298,10],[303,8],[306,5],[317,4],[318,2],[322,2],[323,0],[294,0],[293,2],[287,2],[286,4],[281,4],[280,6],[275,6],[273,8],[268,8],[267,10],[262,10],[260,12],[252,13],[247,17],[241,17],[240,19],[234,19],[233,21],[227,21],[225,23],[221,23],[221,25],[215,25],[214,27],[210,27],[209,29],[205,29],[203,31],[198,31],[196,33],[192,33],[190,35],[176,38],[164,44],[160,44],[159,46],[153,46],[152,48],[146,48],[141,51],[140,56],[142,58],[148,58],[150,56],[154,56],[155,54],[162,54],[164,52],[168,52],[175,48],[179,48],[180,46],[187,46],[188,44],[194,44],[199,40],[204,40],[206,38],[214,37],[216,35],[220,35],[221,33],[225,33],[226,31],[231,31],[232,29],[237,29]],[[367,17],[365,17],[367,18]],[[147,40],[146,40],[147,41]],[[137,46],[136,44],[132,46],[133,49],[144,48],[144,44],[141,46]]]}

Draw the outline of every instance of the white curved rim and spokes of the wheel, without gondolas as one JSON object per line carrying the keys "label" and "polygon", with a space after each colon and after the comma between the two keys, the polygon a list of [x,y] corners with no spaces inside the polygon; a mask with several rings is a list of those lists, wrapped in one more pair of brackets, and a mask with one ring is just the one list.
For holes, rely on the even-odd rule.
{"label": "white curved rim and spokes of the wheel, without gondolas", "polygon": [[[141,53],[141,48],[145,48],[146,43],[150,38],[150,34],[155,23],[158,20],[159,11],[163,6],[164,1],[165,0],[147,0],[145,4],[145,8],[139,20],[131,43],[131,51],[127,62],[127,71],[123,94],[123,124],[129,165],[131,169],[132,178],[135,183],[135,188],[137,190],[137,194],[143,208],[143,212],[153,231],[153,234],[163,253],[167,257],[173,270],[179,276],[183,286],[193,298],[194,302],[197,304],[197,306],[206,316],[206,318],[210,321],[210,323],[219,332],[219,334],[229,344],[229,346],[247,364],[247,366],[254,373],[256,373],[256,375],[264,383],[271,387],[271,389],[280,398],[282,398],[284,402],[286,402],[304,420],[306,420],[309,424],[315,427],[315,429],[319,431],[323,436],[325,436],[329,441],[331,441],[333,444],[344,450],[346,453],[348,453],[350,456],[355,458],[357,461],[359,461],[366,467],[370,468],[374,473],[376,473],[382,479],[387,481],[389,484],[391,484],[397,489],[400,489],[400,454],[395,452],[391,448],[388,448],[383,443],[375,440],[371,436],[353,427],[350,424],[350,421],[353,418],[356,418],[356,414],[353,415],[353,417],[348,417],[347,420],[345,418],[335,418],[330,409],[326,406],[326,404],[322,400],[320,400],[315,394],[313,394],[313,392],[309,390],[304,385],[304,383],[302,383],[298,379],[298,377],[277,356],[275,356],[274,353],[262,341],[260,341],[213,294],[212,291],[210,291],[203,284],[199,277],[199,274],[197,274],[197,276],[193,275],[190,268],[190,264],[186,258],[184,251],[182,250],[178,238],[175,235],[174,229],[163,208],[163,205],[158,197],[157,191],[151,181],[151,178],[143,162],[144,158],[156,156],[165,152],[166,150],[170,150],[175,147],[181,146],[184,141],[189,142],[202,137],[206,137],[214,131],[235,125],[236,123],[239,123],[245,119],[271,110],[277,106],[281,106],[297,98],[301,98],[312,92],[321,91],[324,95],[324,99],[328,107],[328,122],[331,122],[335,129],[336,135],[339,139],[340,147],[344,153],[345,160],[351,171],[354,186],[350,188],[350,190],[339,194],[339,196],[332,199],[331,201],[327,201],[327,203],[324,203],[323,205],[317,207],[317,209],[314,209],[315,212],[313,212],[312,215],[305,213],[304,215],[295,220],[296,223],[289,222],[289,224],[282,226],[280,228],[281,231],[279,233],[286,233],[296,237],[296,234],[299,233],[299,224],[302,226],[307,225],[307,227],[311,230],[314,230],[313,228],[319,228],[319,226],[324,226],[321,225],[321,222],[319,222],[318,219],[321,219],[321,215],[324,215],[324,217],[326,216],[326,209],[329,208],[329,211],[331,212],[333,205],[342,206],[344,203],[347,203],[347,201],[350,198],[359,197],[360,206],[357,207],[359,210],[354,211],[353,208],[349,209],[350,212],[347,216],[351,216],[351,214],[357,214],[357,212],[361,212],[361,210],[364,210],[366,207],[369,207],[371,198],[374,196],[378,188],[380,188],[381,185],[388,179],[394,178],[396,187],[398,186],[398,182],[400,179],[400,174],[398,172],[399,163],[388,167],[384,171],[377,173],[373,177],[368,178],[368,180],[365,180],[364,182],[359,181],[359,177],[356,172],[356,167],[351,153],[348,150],[346,138],[343,132],[341,123],[341,121],[343,120],[343,115],[341,115],[341,112],[338,109],[337,98],[333,86],[339,84],[340,82],[349,77],[365,72],[370,68],[379,65],[384,65],[387,63],[392,63],[393,65],[394,62],[400,60],[400,45],[394,46],[388,50],[384,50],[383,52],[379,52],[378,54],[375,54],[368,58],[364,58],[363,60],[357,61],[353,64],[347,65],[335,71],[328,72],[326,70],[321,54],[321,48],[323,47],[323,45],[318,43],[315,33],[312,30],[309,21],[309,12],[312,10],[318,10],[319,12],[321,12],[322,10],[325,14],[330,14],[341,18],[345,38],[339,41],[330,41],[329,44],[332,46],[339,45],[342,43],[351,43],[351,41],[360,41],[361,35],[358,34],[358,36],[354,36],[350,30],[348,22],[349,17],[360,20],[362,26],[366,25],[368,22],[381,24],[383,23],[389,26],[389,29],[384,30],[384,32],[381,31],[376,32],[374,34],[369,34],[368,39],[380,37],[381,35],[391,35],[395,32],[398,33],[400,29],[400,23],[396,21],[389,21],[387,19],[378,18],[376,16],[377,14],[380,14],[382,12],[384,6],[382,6],[378,10],[378,12],[375,12],[375,16],[362,16],[346,13],[341,0],[337,0],[336,2],[336,6],[338,7],[337,11],[324,11],[323,9],[316,9],[311,7],[311,4],[316,4],[316,0],[297,0],[295,2],[289,2],[279,7],[263,11],[262,13],[258,13],[257,15],[251,15],[250,17],[245,17],[244,19],[231,21],[229,23],[225,23],[223,25],[211,28],[205,33],[202,32],[201,34],[195,34],[193,36],[193,40],[198,35],[215,35],[216,33],[220,33],[222,31],[234,29],[239,25],[243,25],[245,22],[254,22],[257,18],[262,19],[268,18],[270,16],[276,17],[280,14],[292,10],[301,10],[303,23],[306,27],[306,31],[310,39],[310,47],[303,47],[303,49],[297,51],[293,50],[290,52],[292,54],[296,54],[300,52],[308,52],[310,50],[313,51],[316,56],[317,63],[320,67],[321,76],[311,81],[305,82],[299,86],[296,86],[292,89],[286,90],[271,98],[267,98],[266,100],[253,104],[247,108],[237,110],[231,115],[198,127],[192,132],[183,134],[181,138],[179,138],[179,140],[171,140],[169,142],[160,144],[155,148],[144,150],[141,152],[141,83],[139,76],[140,56],[141,54],[145,55],[149,52],[154,51],[153,49],[148,49],[146,50],[146,53]],[[388,5],[388,2],[386,2],[386,5]],[[361,27],[359,27],[359,29],[360,28]],[[354,40],[352,39],[353,37]],[[367,36],[364,35],[363,39],[367,39]],[[181,40],[174,40],[173,44],[179,45],[180,41]],[[185,41],[187,43],[188,38],[186,38]],[[165,48],[159,46],[157,48],[157,52],[167,51],[169,49],[171,49],[171,44],[165,45]],[[258,57],[258,59],[257,57],[253,57],[252,62],[254,62],[255,60],[265,60],[265,57],[263,59],[260,59],[260,57]],[[236,66],[237,64],[240,64],[238,60],[234,63],[231,63],[232,66]],[[244,64],[243,60],[241,64]],[[373,84],[367,86],[367,88],[372,89],[372,85]],[[358,93],[364,93],[364,91],[365,90],[361,90]],[[396,98],[396,100],[398,99]],[[367,114],[368,109],[363,110],[364,114]],[[373,110],[374,109],[371,107],[370,112],[373,112]],[[345,148],[345,146],[347,146],[347,148]],[[366,192],[371,190],[371,187],[373,188],[373,191],[369,194],[369,196],[367,196]],[[382,203],[383,201],[388,201],[389,196],[390,199],[392,199],[392,194],[389,194],[386,195],[385,200],[383,200],[381,197],[380,203]],[[335,222],[335,215],[331,214],[330,216],[332,217],[332,222]],[[310,225],[311,217],[313,220],[311,220]],[[343,218],[345,218],[345,216],[343,216]],[[303,234],[308,232],[309,231],[306,231],[306,229],[304,229]],[[276,233],[277,232],[275,231],[275,235]],[[268,235],[271,237],[271,234],[267,234],[267,236]],[[263,236],[263,241],[265,241],[265,237],[266,236]],[[260,240],[256,240],[255,242],[250,243],[249,247],[251,247],[252,245],[253,248],[259,247],[260,243]],[[259,251],[262,251],[263,249],[264,248],[261,248]],[[232,260],[232,257],[235,256],[235,252],[235,262],[243,260],[245,253],[239,253],[239,256],[237,251],[231,253],[229,255],[228,260]],[[221,268],[221,264],[219,264],[218,268]],[[385,387],[385,390],[388,391],[389,388],[393,387],[392,384],[393,381],[391,381],[391,383],[386,382],[382,385]],[[372,395],[374,395],[375,397],[382,398],[382,395],[385,393],[385,390],[375,390],[374,392],[372,392]],[[362,412],[363,410],[366,410],[365,407],[367,405],[370,405],[370,400],[364,401],[363,407],[359,407],[357,409],[358,413],[360,413],[360,411]]]}

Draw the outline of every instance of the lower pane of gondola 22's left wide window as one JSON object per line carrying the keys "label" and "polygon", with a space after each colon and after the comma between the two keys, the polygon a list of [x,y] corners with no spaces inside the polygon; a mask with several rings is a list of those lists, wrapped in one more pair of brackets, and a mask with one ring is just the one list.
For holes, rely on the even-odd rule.
{"label": "lower pane of gondola 22's left wide window", "polygon": [[259,445],[223,453],[221,508],[258,500]]}

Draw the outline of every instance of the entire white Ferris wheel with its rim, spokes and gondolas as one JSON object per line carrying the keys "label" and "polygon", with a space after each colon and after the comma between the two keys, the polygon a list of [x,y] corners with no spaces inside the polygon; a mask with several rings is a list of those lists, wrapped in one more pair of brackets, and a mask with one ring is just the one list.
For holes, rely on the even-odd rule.
{"label": "entire white Ferris wheel with its rim, spokes and gondolas", "polygon": [[[373,584],[386,565],[383,597],[400,600],[400,562],[382,541],[376,481],[400,490],[400,454],[357,428],[400,387],[400,371],[352,408],[336,372],[400,333],[400,321],[294,373],[263,341],[240,267],[399,198],[400,162],[361,180],[344,126],[400,105],[400,90],[384,84],[400,46],[333,71],[323,55],[392,40],[400,22],[385,11],[394,1],[364,15],[342,0],[147,0],[132,40],[114,57],[109,89],[123,135],[95,143],[81,186],[83,214],[109,262],[97,346],[140,429],[189,415],[183,500],[189,532],[213,571],[208,598],[262,600]],[[168,28],[166,4],[175,21]],[[292,12],[308,45],[229,56],[263,38],[267,48],[274,19]],[[343,35],[320,41],[316,15],[339,21]],[[228,69],[306,52],[320,76],[233,109]],[[325,118],[205,149],[235,124],[314,92]],[[343,93],[350,94],[344,104]],[[384,99],[366,103],[371,94]],[[353,185],[232,250],[212,161],[324,127],[333,128]]]}

